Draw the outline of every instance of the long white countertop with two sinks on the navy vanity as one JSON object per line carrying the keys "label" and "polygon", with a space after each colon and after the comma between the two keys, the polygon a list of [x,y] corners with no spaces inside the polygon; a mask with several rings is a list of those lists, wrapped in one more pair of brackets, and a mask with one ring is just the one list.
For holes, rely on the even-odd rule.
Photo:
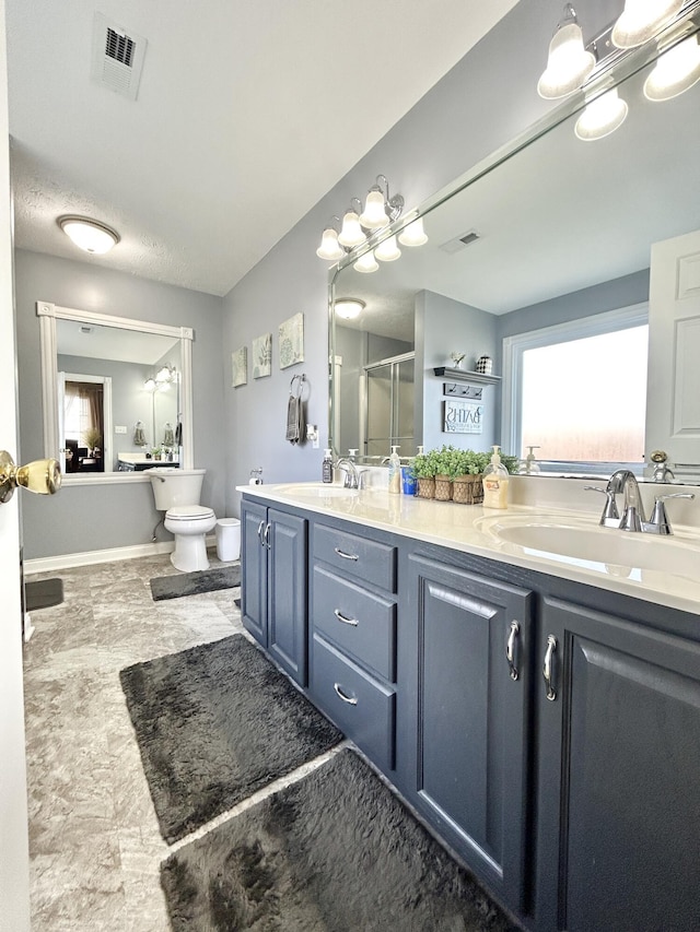
{"label": "long white countertop with two sinks on the navy vanity", "polygon": [[[494,510],[394,495],[386,487],[350,492],[312,482],[236,491],[700,615],[700,531],[693,527],[675,524],[672,536],[630,534],[600,528],[592,511],[551,504]],[[541,529],[553,530],[556,548],[537,544]],[[530,532],[535,545],[506,540]]]}

